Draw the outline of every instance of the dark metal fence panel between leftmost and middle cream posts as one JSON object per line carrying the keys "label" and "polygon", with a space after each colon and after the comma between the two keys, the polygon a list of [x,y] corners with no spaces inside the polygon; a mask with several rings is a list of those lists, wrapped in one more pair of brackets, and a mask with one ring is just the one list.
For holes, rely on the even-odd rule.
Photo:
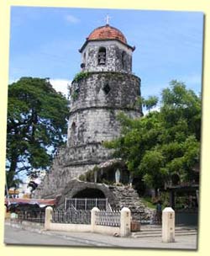
{"label": "dark metal fence panel between leftmost and middle cream posts", "polygon": [[54,209],[52,222],[71,224],[91,224],[91,211],[69,209]]}

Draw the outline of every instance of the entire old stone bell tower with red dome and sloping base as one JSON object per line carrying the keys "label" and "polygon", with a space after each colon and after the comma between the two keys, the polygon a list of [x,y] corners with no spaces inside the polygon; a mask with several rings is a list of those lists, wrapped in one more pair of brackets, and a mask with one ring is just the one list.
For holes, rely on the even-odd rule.
{"label": "entire old stone bell tower with red dome and sloping base", "polygon": [[141,116],[135,104],[140,78],[132,74],[134,47],[123,33],[109,24],[98,27],[79,51],[81,72],[71,83],[67,143],[39,188],[45,190],[41,193],[45,197],[59,194],[71,179],[110,159],[110,150],[102,142],[119,136],[119,112]]}

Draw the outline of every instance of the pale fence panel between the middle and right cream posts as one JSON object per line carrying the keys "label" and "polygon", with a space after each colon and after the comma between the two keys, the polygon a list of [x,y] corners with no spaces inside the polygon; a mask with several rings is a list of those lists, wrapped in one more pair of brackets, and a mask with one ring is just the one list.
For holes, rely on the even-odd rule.
{"label": "pale fence panel between the middle and right cream posts", "polygon": [[101,226],[120,227],[120,211],[97,211],[96,224]]}

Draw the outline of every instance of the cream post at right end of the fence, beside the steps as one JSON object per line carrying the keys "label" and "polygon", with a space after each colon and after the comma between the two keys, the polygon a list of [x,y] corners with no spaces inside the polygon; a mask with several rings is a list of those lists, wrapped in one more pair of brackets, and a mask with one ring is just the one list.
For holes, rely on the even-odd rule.
{"label": "cream post at right end of the fence, beside the steps", "polygon": [[128,207],[120,211],[120,237],[128,237],[130,234],[131,215]]}

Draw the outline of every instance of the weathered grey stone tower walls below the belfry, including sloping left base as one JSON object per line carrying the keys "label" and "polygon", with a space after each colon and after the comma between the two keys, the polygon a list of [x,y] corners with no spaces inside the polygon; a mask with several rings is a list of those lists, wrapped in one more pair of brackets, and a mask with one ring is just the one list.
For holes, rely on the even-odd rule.
{"label": "weathered grey stone tower walls below the belfry, including sloping left base", "polygon": [[[106,84],[108,93],[104,91]],[[139,86],[139,77],[116,72],[92,72],[72,83],[71,93],[78,88],[78,95],[71,100],[67,146],[58,151],[34,197],[55,197],[71,179],[110,159],[112,151],[102,147],[102,142],[119,136],[120,111],[132,118],[141,115],[135,105]]]}

